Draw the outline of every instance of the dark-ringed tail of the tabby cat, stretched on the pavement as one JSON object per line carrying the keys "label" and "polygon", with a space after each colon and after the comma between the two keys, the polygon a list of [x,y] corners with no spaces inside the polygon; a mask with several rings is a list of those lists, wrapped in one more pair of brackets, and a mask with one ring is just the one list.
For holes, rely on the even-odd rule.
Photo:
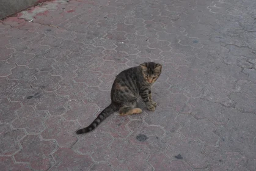
{"label": "dark-ringed tail of the tabby cat, stretched on the pavement", "polygon": [[86,128],[78,129],[76,134],[89,133],[93,129],[95,129],[106,117],[117,111],[118,108],[115,104],[111,103],[108,107],[106,107],[93,122],[87,126]]}

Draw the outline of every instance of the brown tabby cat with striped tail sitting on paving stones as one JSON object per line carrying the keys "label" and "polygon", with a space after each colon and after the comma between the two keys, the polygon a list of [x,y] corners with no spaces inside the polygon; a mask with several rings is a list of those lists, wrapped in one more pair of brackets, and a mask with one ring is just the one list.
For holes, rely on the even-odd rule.
{"label": "brown tabby cat with striped tail sitting on paving stones", "polygon": [[89,126],[79,129],[76,134],[89,133],[115,111],[119,111],[122,116],[141,114],[142,110],[136,108],[139,96],[149,111],[155,111],[156,103],[152,100],[151,86],[159,78],[161,71],[161,64],[145,62],[119,73],[112,85],[111,104]]}

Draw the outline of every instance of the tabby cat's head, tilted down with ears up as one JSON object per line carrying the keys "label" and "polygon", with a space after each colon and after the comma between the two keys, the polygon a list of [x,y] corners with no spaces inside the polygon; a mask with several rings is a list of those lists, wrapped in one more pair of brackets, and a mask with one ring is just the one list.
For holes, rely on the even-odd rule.
{"label": "tabby cat's head, tilted down with ears up", "polygon": [[162,65],[155,62],[145,62],[139,65],[142,68],[142,74],[145,81],[152,84],[161,75]]}

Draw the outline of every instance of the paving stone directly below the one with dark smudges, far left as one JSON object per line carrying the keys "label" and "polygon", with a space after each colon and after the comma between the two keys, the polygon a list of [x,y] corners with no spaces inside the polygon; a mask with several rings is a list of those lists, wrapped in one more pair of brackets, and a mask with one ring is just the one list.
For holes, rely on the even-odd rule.
{"label": "paving stone directly below the one with dark smudges, far left", "polygon": [[13,120],[14,128],[24,128],[27,134],[38,134],[45,129],[43,121],[48,116],[45,111],[35,111],[32,107],[21,107],[16,111],[18,117]]}

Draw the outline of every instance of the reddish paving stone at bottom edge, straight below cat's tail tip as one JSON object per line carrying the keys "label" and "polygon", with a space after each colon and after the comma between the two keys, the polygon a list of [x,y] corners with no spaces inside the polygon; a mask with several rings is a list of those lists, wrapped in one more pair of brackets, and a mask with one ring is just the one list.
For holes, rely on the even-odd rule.
{"label": "reddish paving stone at bottom edge, straight below cat's tail tip", "polygon": [[51,170],[84,170],[89,169],[93,164],[89,155],[78,155],[67,147],[59,148],[53,154],[53,157],[56,164],[51,167]]}

